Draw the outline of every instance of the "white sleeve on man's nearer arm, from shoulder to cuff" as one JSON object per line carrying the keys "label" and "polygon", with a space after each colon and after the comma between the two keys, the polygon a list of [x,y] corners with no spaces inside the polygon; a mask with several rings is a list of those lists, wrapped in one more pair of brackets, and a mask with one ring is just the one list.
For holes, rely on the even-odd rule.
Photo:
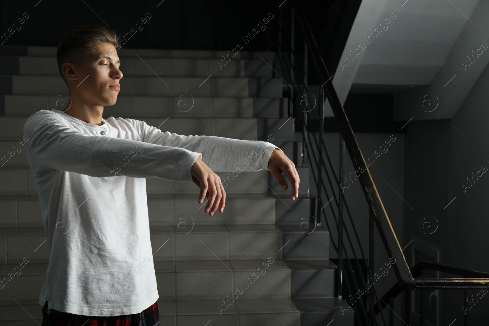
{"label": "white sleeve on man's nearer arm, from shoulder to cuff", "polygon": [[27,119],[24,135],[28,136],[27,155],[39,168],[94,177],[119,174],[192,182],[190,168],[201,154],[174,146],[85,134],[48,110]]}

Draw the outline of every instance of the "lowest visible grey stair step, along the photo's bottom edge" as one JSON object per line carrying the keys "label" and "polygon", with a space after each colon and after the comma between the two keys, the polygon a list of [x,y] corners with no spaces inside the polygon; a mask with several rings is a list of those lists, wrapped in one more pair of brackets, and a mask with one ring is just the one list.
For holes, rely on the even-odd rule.
{"label": "lowest visible grey stair step, along the photo's bottom edge", "polygon": [[[42,322],[37,301],[17,300],[0,305],[0,326],[34,326]],[[354,323],[354,310],[337,298],[245,299],[238,297],[224,310],[222,300],[165,301],[158,299],[160,323],[165,326],[212,325],[334,325]],[[222,310],[220,310],[222,309]],[[39,324],[37,324],[37,323]]]}

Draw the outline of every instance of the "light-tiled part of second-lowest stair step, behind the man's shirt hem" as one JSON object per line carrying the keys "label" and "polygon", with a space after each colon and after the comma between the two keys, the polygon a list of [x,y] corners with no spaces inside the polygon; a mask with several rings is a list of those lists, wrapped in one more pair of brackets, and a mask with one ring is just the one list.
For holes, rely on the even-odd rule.
{"label": "light-tiled part of second-lowest stair step, behind the man's shirt hem", "polygon": [[[290,298],[290,269],[281,260],[155,261],[154,264],[159,300],[227,300],[227,295],[231,296],[238,288],[243,291],[240,298]],[[15,264],[0,266],[0,304],[14,299],[38,299],[47,267],[47,263],[30,261],[23,269]],[[17,275],[13,276],[13,271]]]}

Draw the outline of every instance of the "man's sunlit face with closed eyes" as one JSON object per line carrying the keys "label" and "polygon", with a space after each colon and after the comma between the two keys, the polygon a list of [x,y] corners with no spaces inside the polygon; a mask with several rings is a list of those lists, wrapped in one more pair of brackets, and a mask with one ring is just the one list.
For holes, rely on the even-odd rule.
{"label": "man's sunlit face with closed eyes", "polygon": [[76,92],[90,105],[114,105],[120,85],[112,85],[119,84],[123,76],[119,70],[119,57],[111,43],[98,43],[95,48],[85,56],[80,66],[75,66],[77,78],[70,91]]}

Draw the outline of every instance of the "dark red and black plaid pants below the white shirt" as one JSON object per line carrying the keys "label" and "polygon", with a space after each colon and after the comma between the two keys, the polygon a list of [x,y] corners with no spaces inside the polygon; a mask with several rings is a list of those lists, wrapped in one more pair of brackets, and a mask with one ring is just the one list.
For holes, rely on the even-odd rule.
{"label": "dark red and black plaid pants below the white shirt", "polygon": [[47,310],[47,301],[43,306],[42,326],[158,326],[158,301],[140,313],[121,316],[82,316],[54,309]]}

